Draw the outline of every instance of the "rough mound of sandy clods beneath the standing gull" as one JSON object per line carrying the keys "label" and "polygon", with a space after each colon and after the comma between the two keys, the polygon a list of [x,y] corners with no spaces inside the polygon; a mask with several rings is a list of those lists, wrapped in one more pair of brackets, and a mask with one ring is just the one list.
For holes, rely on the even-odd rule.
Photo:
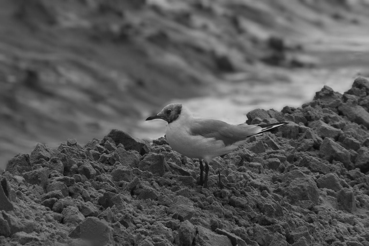
{"label": "rough mound of sandy clods beneath the standing gull", "polygon": [[324,87],[300,108],[250,112],[290,124],[215,158],[208,189],[164,138],[38,144],[1,174],[0,244],[369,245],[368,95],[356,79],[343,95]]}

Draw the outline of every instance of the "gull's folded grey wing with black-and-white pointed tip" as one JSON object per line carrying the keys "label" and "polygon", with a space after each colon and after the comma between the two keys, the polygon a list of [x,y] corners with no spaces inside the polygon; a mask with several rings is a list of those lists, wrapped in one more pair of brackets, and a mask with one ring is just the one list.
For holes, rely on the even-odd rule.
{"label": "gull's folded grey wing with black-and-white pointed tip", "polygon": [[275,127],[288,124],[286,122],[270,125],[248,125],[245,123],[231,125],[221,120],[196,119],[190,127],[190,134],[201,135],[206,138],[221,140],[225,146],[245,140],[251,136],[261,135],[264,131],[270,131]]}

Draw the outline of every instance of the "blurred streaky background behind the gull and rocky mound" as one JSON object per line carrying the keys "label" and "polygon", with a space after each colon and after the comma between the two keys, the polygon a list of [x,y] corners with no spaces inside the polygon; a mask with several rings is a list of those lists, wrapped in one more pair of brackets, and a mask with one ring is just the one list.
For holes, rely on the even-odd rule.
{"label": "blurred streaky background behind the gull and rocky mound", "polygon": [[245,122],[369,76],[369,0],[0,0],[0,168],[85,144],[170,102]]}

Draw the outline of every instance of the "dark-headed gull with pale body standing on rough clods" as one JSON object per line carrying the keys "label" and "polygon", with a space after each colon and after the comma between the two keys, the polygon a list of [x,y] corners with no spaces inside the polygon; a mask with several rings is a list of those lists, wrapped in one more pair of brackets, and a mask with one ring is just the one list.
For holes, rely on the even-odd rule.
{"label": "dark-headed gull with pale body standing on rough clods", "polygon": [[[228,154],[244,144],[249,137],[262,135],[276,127],[288,124],[280,122],[269,125],[234,125],[221,120],[194,117],[182,103],[170,103],[161,112],[146,120],[162,119],[168,122],[166,140],[169,146],[189,158],[199,159],[200,185],[207,187],[208,163],[217,157]],[[205,178],[203,179],[205,162]]]}

